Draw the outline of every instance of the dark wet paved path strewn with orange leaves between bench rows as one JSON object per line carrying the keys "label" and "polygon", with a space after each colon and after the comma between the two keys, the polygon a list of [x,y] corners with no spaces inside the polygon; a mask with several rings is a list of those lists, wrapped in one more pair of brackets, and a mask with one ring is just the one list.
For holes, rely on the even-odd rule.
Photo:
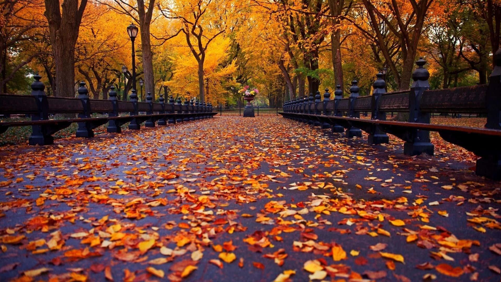
{"label": "dark wet paved path strewn with orange leaves between bench rows", "polygon": [[0,277],[499,281],[501,184],[390,143],[218,116],[0,148]]}

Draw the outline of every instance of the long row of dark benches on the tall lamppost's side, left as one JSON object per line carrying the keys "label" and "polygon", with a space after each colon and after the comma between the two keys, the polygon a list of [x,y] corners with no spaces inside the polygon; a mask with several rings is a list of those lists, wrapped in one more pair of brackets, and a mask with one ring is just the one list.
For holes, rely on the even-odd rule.
{"label": "long row of dark benches on the tall lamppost's side, left", "polygon": [[[108,132],[121,132],[121,125],[129,122],[129,129],[138,130],[141,123],[146,127],[154,127],[167,123],[192,121],[213,117],[217,112],[212,112],[212,105],[202,101],[187,98],[181,101],[178,97],[174,102],[172,96],[167,103],[163,95],[159,102],[153,103],[151,93],[146,96],[147,102],[138,102],[136,90],[132,90],[130,101],[120,101],[117,98],[115,87],[110,87],[108,100],[90,99],[89,91],[85,82],[80,82],[77,98],[49,97],[44,89],[45,85],[40,81],[40,75],[35,75],[32,83],[31,95],[0,94],[0,114],[24,114],[31,115],[31,121],[0,122],[0,133],[5,132],[11,126],[32,126],[32,134],[29,139],[30,145],[54,144],[52,134],[78,123],[77,137],[93,137],[93,129],[108,122]],[[120,115],[128,112],[129,115]],[[146,114],[140,115],[139,112]],[[93,113],[105,114],[103,117],[93,117]],[[78,118],[50,119],[50,114],[78,114]]]}

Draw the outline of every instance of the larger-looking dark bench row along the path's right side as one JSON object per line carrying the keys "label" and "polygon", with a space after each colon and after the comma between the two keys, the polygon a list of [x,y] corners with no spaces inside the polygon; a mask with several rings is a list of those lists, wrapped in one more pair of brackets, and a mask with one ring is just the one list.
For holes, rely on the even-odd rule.
{"label": "larger-looking dark bench row along the path's right side", "polygon": [[[310,93],[284,103],[284,117],[306,122],[332,132],[344,132],[347,137],[361,137],[369,133],[370,144],[389,143],[386,133],[405,141],[404,154],[433,155],[430,131],[436,131],[449,143],[473,152],[480,158],[475,172],[494,180],[501,180],[501,49],[494,55],[495,67],[488,84],[429,90],[429,72],[420,58],[412,74],[409,90],[386,92],[386,82],[379,72],[370,96],[359,96],[357,81],[352,81],[350,96],[342,98],[337,85],[334,100],[326,89],[324,99],[320,92]],[[408,122],[386,120],[386,112],[407,112]],[[371,112],[371,119],[360,118],[360,112]],[[431,113],[468,113],[487,116],[484,128],[430,124]],[[346,116],[343,116],[346,113]]]}

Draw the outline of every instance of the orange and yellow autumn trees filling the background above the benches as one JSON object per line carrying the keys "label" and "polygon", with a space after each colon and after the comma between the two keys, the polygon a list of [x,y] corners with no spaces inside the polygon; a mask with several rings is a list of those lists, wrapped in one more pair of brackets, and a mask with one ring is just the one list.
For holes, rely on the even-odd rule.
{"label": "orange and yellow autumn trees filling the background above the benches", "polygon": [[114,85],[127,99],[134,23],[144,93],[227,105],[245,85],[270,106],[355,78],[368,94],[382,68],[388,90],[408,89],[420,56],[432,88],[487,83],[501,29],[499,0],[4,0],[0,13],[5,93],[39,72],[49,95],[85,80],[93,98]]}

